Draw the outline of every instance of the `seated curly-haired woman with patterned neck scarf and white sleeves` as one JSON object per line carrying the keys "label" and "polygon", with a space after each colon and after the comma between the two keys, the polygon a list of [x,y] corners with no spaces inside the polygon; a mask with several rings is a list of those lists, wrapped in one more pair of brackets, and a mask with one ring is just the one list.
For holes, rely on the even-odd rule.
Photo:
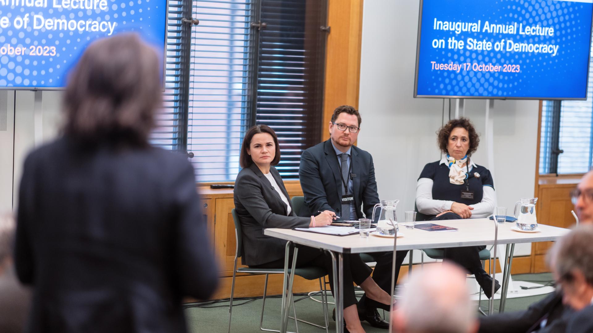
{"label": "seated curly-haired woman with patterned neck scarf and white sleeves", "polygon": [[[492,175],[471,161],[480,139],[471,121],[452,119],[436,132],[445,156],[426,164],[416,185],[418,220],[452,220],[488,217],[496,207]],[[500,288],[482,268],[479,252],[486,246],[445,248],[445,260],[454,261],[476,276],[484,294],[492,297]]]}

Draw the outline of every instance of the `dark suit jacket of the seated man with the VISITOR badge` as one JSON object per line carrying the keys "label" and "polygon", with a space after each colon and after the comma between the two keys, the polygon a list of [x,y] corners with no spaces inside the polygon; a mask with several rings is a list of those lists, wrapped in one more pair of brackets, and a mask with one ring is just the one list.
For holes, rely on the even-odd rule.
{"label": "dark suit jacket of the seated man with the VISITOR badge", "polygon": [[[375,166],[372,156],[362,149],[352,146],[350,151],[352,174],[352,189],[356,207],[356,219],[365,216],[370,219],[372,209],[379,202],[377,181],[375,181]],[[321,142],[301,155],[299,180],[305,194],[305,203],[310,212],[306,215],[317,214],[317,211],[331,210],[338,216],[342,214],[342,178],[337,162],[336,151],[331,145],[331,139]],[[362,205],[362,210],[361,210]]]}

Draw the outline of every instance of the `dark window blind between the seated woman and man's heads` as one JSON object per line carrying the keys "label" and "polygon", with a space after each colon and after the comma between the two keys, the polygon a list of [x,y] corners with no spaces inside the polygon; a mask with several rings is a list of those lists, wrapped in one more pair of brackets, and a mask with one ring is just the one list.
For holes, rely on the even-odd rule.
{"label": "dark window blind between the seated woman and man's heads", "polygon": [[256,123],[276,132],[284,180],[297,180],[301,153],[320,142],[326,1],[263,0]]}

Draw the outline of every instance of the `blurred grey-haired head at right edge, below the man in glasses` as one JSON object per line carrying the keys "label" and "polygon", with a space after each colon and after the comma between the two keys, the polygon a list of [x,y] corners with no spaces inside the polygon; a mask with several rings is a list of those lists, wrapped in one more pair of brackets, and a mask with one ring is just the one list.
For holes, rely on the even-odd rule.
{"label": "blurred grey-haired head at right edge, below the man in glasses", "polygon": [[593,300],[593,225],[579,225],[554,244],[548,264],[563,292],[563,303],[575,310]]}

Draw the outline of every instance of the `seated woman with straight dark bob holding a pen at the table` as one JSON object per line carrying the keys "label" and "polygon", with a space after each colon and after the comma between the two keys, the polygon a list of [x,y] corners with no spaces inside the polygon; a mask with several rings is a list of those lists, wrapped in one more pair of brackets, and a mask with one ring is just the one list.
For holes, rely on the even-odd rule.
{"label": "seated woman with straight dark bob holding a pen at the table", "polygon": [[[309,228],[326,226],[336,217],[329,210],[311,217],[299,217],[292,210],[291,200],[282,178],[273,165],[280,161],[276,133],[266,125],[251,127],[244,137],[240,162],[243,169],[235,180],[235,210],[243,229],[243,264],[258,268],[284,267],[286,241],[263,234],[265,228]],[[291,252],[292,255],[292,252]],[[289,260],[292,261],[292,258]],[[297,267],[317,266],[329,272],[333,290],[331,258],[320,249],[299,247]],[[371,268],[360,255],[345,255],[344,319],[347,332],[364,332],[356,310],[352,282],[361,286],[368,297],[388,309],[390,295],[371,277]]]}

